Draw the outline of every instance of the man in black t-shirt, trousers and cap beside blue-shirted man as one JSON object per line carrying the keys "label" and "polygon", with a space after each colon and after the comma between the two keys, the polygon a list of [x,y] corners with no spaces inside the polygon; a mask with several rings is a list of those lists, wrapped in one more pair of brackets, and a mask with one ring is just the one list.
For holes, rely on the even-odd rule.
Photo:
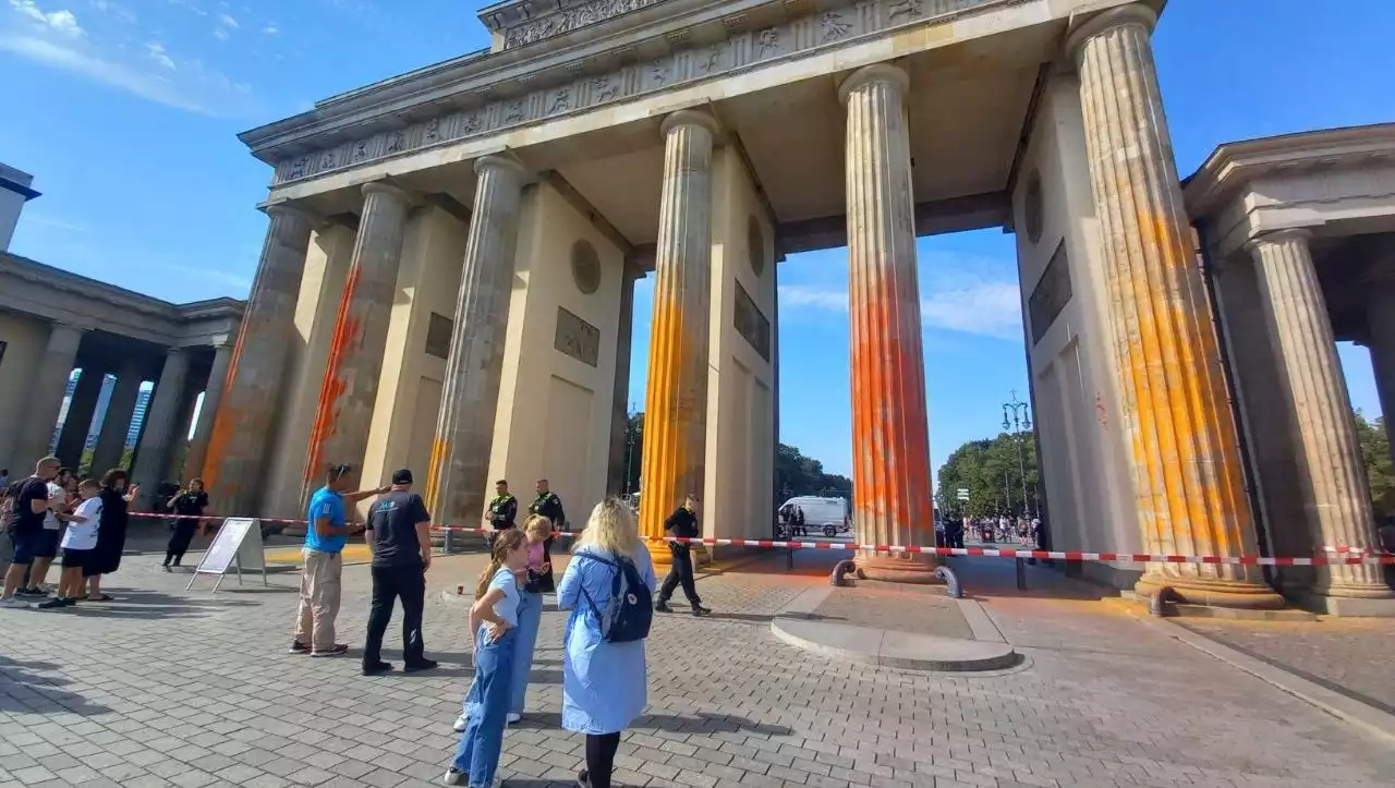
{"label": "man in black t-shirt, trousers and cap beside blue-shirted man", "polygon": [[392,490],[368,512],[364,538],[372,550],[372,608],[363,646],[363,675],[392,669],[382,661],[382,636],[392,619],[392,605],[402,598],[402,661],[406,672],[437,667],[427,660],[421,642],[421,608],[425,605],[427,569],[431,568],[431,515],[421,497],[412,492],[412,471],[392,474]]}

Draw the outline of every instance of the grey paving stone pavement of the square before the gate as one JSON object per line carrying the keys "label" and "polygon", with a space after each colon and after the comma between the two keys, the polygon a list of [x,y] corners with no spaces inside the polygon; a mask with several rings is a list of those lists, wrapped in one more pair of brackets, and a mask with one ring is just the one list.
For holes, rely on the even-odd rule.
{"label": "grey paving stone pavement of the square before the gate", "polygon": [[[483,558],[432,566],[425,637],[441,669],[378,678],[360,676],[353,657],[285,653],[296,575],[212,596],[184,593],[188,576],[158,562],[128,556],[110,579],[121,601],[107,607],[0,609],[0,788],[439,778],[470,679],[463,609],[439,593],[470,583]],[[625,735],[618,784],[1268,788],[1389,785],[1395,773],[1387,743],[1108,603],[983,594],[1028,661],[990,676],[923,675],[784,646],[770,616],[827,580],[760,569],[699,580],[718,611],[710,619],[656,621],[650,707]],[[960,570],[972,590],[972,569]],[[340,640],[357,650],[367,568],[346,568],[343,583]],[[562,622],[544,616],[533,713],[505,738],[505,785],[569,785],[582,763],[582,739],[557,728]]]}

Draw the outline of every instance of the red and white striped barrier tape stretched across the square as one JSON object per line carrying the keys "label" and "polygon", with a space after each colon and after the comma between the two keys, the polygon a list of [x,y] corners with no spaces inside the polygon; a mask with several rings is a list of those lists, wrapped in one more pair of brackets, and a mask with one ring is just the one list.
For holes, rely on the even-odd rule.
{"label": "red and white striped barrier tape stretched across the square", "polygon": [[[133,517],[155,517],[160,520],[212,520],[218,517],[199,517],[195,515],[158,515],[153,512],[133,512]],[[262,523],[296,523],[306,524],[310,520],[286,519],[286,517],[257,517]],[[491,529],[469,529],[463,526],[432,526],[435,533],[465,533],[465,534],[487,534],[492,533]],[[562,538],[575,538],[580,536],[575,531],[554,531],[552,536]],[[1155,552],[1081,552],[1081,551],[1057,551],[1057,550],[1013,550],[1013,548],[988,548],[988,547],[921,547],[915,544],[908,545],[894,545],[894,544],[858,544],[847,541],[781,541],[781,540],[766,540],[766,538],[688,538],[688,537],[644,537],[646,541],[667,541],[678,544],[704,544],[711,547],[763,547],[763,548],[777,548],[777,550],[841,550],[851,552],[855,550],[865,550],[869,552],[905,552],[905,554],[919,554],[919,555],[939,555],[939,556],[981,556],[981,558],[1039,558],[1049,561],[1120,561],[1131,563],[1229,563],[1229,565],[1249,565],[1249,566],[1325,566],[1325,565],[1395,565],[1395,554],[1377,552],[1373,548],[1353,548],[1353,547],[1324,547],[1322,550],[1328,554],[1335,555],[1311,555],[1307,558],[1275,558],[1268,555],[1166,555]]]}

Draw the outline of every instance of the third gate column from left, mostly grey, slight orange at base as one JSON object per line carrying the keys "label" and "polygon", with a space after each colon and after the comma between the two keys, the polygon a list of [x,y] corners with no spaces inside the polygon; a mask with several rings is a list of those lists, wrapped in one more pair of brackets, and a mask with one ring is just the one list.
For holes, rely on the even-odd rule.
{"label": "third gate column from left, mostly grey, slight orange at base", "polygon": [[527,174],[505,156],[484,156],[474,163],[474,209],[425,488],[427,505],[438,522],[476,523],[484,515],[513,290],[519,202]]}

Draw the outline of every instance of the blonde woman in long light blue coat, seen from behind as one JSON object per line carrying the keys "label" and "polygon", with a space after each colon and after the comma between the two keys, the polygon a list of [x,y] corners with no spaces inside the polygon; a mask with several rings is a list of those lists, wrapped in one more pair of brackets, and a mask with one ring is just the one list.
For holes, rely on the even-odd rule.
{"label": "blonde woman in long light blue coat, seen from behind", "polygon": [[643,640],[610,643],[601,637],[591,604],[605,614],[618,569],[587,555],[629,558],[650,593],[657,582],[635,515],[614,498],[597,503],[557,587],[557,607],[572,611],[564,636],[562,728],[586,734],[586,768],[576,784],[610,788],[619,734],[644,710],[649,676]]}

